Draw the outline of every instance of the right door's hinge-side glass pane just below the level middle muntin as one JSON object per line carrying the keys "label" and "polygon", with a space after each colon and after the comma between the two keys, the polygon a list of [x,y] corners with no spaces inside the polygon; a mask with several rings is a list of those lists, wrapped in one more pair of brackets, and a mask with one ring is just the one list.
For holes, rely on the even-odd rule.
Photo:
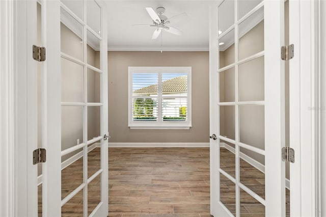
{"label": "right door's hinge-side glass pane just below the level middle muntin", "polygon": [[239,140],[241,143],[265,149],[265,116],[263,105],[239,106]]}

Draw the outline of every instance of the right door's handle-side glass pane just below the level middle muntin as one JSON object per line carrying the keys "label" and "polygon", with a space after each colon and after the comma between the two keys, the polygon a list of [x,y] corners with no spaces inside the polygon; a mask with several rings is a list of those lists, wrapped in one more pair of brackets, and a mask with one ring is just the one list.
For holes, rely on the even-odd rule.
{"label": "right door's handle-side glass pane just below the level middle muntin", "polygon": [[234,105],[220,106],[220,134],[222,137],[235,140],[235,107]]}

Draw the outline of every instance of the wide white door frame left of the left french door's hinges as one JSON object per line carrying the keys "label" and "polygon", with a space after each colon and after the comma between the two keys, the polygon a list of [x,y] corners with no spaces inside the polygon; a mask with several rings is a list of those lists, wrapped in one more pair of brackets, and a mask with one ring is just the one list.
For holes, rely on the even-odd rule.
{"label": "wide white door frame left of the left french door's hinges", "polygon": [[[36,1],[1,1],[1,211],[3,216],[37,215]],[[36,16],[35,16],[36,17]],[[33,62],[34,61],[34,62]],[[4,120],[4,121],[3,121]],[[8,176],[3,176],[7,174]]]}

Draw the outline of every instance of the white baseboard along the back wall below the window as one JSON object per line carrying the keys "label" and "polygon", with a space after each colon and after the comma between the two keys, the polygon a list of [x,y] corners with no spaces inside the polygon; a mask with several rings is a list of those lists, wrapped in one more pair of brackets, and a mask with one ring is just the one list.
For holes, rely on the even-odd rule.
{"label": "white baseboard along the back wall below the window", "polygon": [[108,143],[109,148],[209,148],[209,143]]}

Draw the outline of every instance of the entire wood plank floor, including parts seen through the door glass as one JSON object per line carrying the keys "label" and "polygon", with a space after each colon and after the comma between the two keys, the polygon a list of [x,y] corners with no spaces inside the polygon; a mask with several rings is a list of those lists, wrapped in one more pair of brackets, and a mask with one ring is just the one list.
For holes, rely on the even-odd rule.
{"label": "entire wood plank floor, including parts seen through the door glass", "polygon": [[[235,174],[234,154],[221,148],[221,168]],[[89,177],[99,168],[99,149],[89,153]],[[210,216],[209,148],[109,148],[108,216]],[[62,171],[62,198],[82,183],[83,159]],[[240,160],[240,181],[265,197],[264,174]],[[39,212],[42,209],[39,186]],[[89,187],[90,213],[98,204],[100,180]],[[221,176],[221,201],[235,212],[235,185]],[[241,216],[264,216],[264,206],[240,191]],[[289,191],[286,191],[289,216]],[[82,216],[83,193],[62,207],[62,216]],[[235,214],[235,213],[234,213]],[[40,215],[39,215],[40,216]]]}

